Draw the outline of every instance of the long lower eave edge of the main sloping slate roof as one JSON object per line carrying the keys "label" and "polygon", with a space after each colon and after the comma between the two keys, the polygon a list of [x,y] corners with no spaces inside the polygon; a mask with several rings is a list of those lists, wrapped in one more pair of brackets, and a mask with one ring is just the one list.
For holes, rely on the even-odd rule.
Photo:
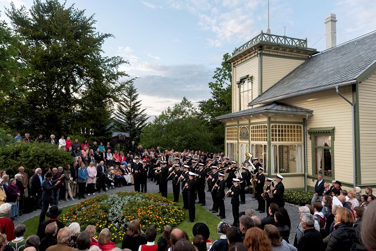
{"label": "long lower eave edge of the main sloping slate roof", "polygon": [[[260,101],[258,101],[257,100],[258,98],[256,98],[255,101],[251,101],[250,103],[248,103],[248,106],[254,106],[254,105],[257,105],[257,104],[265,104],[265,103],[278,101],[278,100],[285,99],[285,98],[292,98],[292,97],[296,97],[296,96],[299,96],[299,95],[329,90],[329,89],[335,88],[336,86],[346,86],[346,85],[352,85],[352,84],[356,84],[356,83],[357,83],[356,80],[349,80],[349,81],[344,81],[344,82],[341,82],[341,83],[335,83],[335,84],[330,84],[330,85],[326,85],[326,86],[320,86],[320,87],[317,87],[317,88],[306,89],[306,90],[302,90],[302,91],[298,91],[298,92],[294,92],[294,93],[284,94],[284,95],[281,95],[281,96],[263,99],[263,100],[260,100]],[[262,97],[262,95],[259,96],[259,98],[260,97]]]}

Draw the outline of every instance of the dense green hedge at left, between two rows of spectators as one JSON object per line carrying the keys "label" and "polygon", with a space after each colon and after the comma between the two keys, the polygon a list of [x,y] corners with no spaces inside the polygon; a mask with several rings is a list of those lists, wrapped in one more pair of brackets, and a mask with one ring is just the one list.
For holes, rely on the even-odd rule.
{"label": "dense green hedge at left, between two rows of spectators", "polygon": [[10,177],[18,173],[19,166],[24,166],[30,176],[31,170],[37,167],[44,169],[72,163],[73,157],[70,153],[48,143],[21,142],[0,148],[0,170],[6,170]]}

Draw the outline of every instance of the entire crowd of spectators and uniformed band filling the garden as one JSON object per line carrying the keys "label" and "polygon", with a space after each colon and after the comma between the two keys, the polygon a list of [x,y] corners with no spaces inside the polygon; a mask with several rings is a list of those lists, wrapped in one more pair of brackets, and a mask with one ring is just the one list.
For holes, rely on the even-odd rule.
{"label": "entire crowd of spectators and uniformed band filling the garden", "polygon": [[[263,173],[264,168],[258,163],[257,158],[246,160],[247,163],[252,163],[252,168],[249,169],[246,163],[238,167],[236,161],[230,161],[223,153],[211,154],[190,150],[179,153],[173,149],[162,151],[159,147],[143,149],[141,145],[136,147],[135,142],[132,142],[128,149],[111,153],[112,146],[109,142],[105,146],[102,142],[99,145],[93,142],[92,146],[89,146],[86,140],[81,144],[77,139],[73,144],[67,143],[69,141],[71,139],[67,137],[65,140],[64,136],[55,141],[51,135],[48,143],[56,144],[65,151],[75,149],[72,151],[72,164],[45,170],[36,168],[30,179],[23,166],[19,167],[19,173],[14,179],[9,179],[5,171],[0,171],[0,203],[3,204],[0,206],[0,226],[1,232],[8,236],[6,240],[10,241],[5,241],[8,245],[4,245],[0,250],[7,250],[12,243],[23,240],[20,233],[24,234],[25,227],[18,225],[15,228],[12,219],[17,213],[34,209],[41,209],[40,225],[37,235],[28,239],[30,238],[30,243],[40,242],[34,245],[39,250],[118,250],[114,249],[114,243],[110,242],[111,234],[108,229],[103,229],[95,239],[96,232],[93,226],[88,226],[82,232],[78,223],[64,227],[57,220],[61,213],[57,207],[58,203],[64,199],[85,199],[85,195],[95,195],[114,186],[131,184],[134,184],[136,192],[147,193],[148,181],[156,182],[161,195],[167,197],[169,180],[172,180],[174,202],[178,202],[181,192],[183,207],[189,210],[190,222],[195,221],[195,204],[205,205],[205,192],[208,192],[213,200],[211,211],[219,212],[218,217],[222,219],[226,218],[224,201],[226,197],[231,197],[233,223],[230,225],[225,221],[220,222],[218,233],[221,236],[217,241],[212,242],[205,233],[195,234],[193,243],[187,240],[189,238],[184,231],[172,230],[166,226],[163,236],[156,244],[155,229],[150,227],[143,234],[140,222],[135,220],[131,222],[124,236],[123,249],[173,251],[180,248],[187,251],[193,248],[192,250],[199,251],[227,251],[231,248],[240,248],[248,251],[300,251],[351,250],[356,245],[356,250],[362,250],[364,246],[372,250],[375,245],[372,233],[367,232],[364,237],[364,228],[371,229],[367,231],[373,230],[373,226],[364,221],[367,214],[370,218],[374,217],[375,206],[372,202],[374,196],[371,187],[366,187],[364,195],[361,195],[360,187],[354,187],[353,191],[348,192],[342,190],[340,181],[333,180],[330,186],[319,174],[311,204],[299,207],[300,223],[294,243],[290,244],[291,221],[284,208],[283,176],[277,174],[274,179],[266,177]],[[239,204],[245,203],[245,189],[251,186],[256,191],[257,210],[267,213],[267,217],[263,219],[257,217],[252,209],[239,212]],[[250,189],[248,191],[250,192]],[[45,220],[45,215],[49,217],[48,220]],[[202,223],[197,224],[205,228],[200,225]],[[18,229],[19,226],[21,230]],[[194,231],[196,230],[194,228]],[[0,235],[0,240],[5,234]],[[26,243],[29,242],[27,239],[24,241],[27,247]],[[43,249],[44,247],[46,248]]]}

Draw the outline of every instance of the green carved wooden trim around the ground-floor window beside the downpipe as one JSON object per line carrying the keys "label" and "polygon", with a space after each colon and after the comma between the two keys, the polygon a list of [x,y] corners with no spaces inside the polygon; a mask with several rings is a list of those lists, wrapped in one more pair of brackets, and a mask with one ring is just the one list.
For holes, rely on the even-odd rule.
{"label": "green carved wooden trim around the ground-floor window beside the downpipe", "polygon": [[[316,176],[316,154],[315,149],[330,149],[331,150],[331,170],[332,170],[332,176],[326,176],[325,170],[323,170],[323,176],[324,178],[331,178],[335,179],[335,166],[334,166],[334,127],[328,127],[328,128],[311,128],[307,130],[307,133],[309,134],[309,139],[311,141],[311,159],[312,159],[312,175]],[[331,136],[331,146],[325,147],[325,146],[315,146],[315,137],[316,136]],[[322,162],[324,162],[324,158],[322,158]],[[322,166],[324,166],[322,164]]]}

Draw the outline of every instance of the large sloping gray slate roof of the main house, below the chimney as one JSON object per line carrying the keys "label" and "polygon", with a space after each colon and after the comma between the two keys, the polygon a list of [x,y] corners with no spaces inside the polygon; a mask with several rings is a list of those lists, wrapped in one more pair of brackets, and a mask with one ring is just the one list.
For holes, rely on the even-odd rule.
{"label": "large sloping gray slate roof of the main house, below the chimney", "polygon": [[376,71],[376,32],[311,56],[248,105],[360,83]]}

